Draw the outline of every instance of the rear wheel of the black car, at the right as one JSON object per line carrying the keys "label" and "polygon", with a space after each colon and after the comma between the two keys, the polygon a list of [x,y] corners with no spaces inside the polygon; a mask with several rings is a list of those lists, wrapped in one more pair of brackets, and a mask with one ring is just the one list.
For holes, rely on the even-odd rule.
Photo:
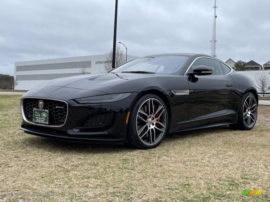
{"label": "rear wheel of the black car, at the right", "polygon": [[258,103],[253,93],[246,93],[241,101],[237,123],[230,124],[234,130],[251,130],[256,123]]}

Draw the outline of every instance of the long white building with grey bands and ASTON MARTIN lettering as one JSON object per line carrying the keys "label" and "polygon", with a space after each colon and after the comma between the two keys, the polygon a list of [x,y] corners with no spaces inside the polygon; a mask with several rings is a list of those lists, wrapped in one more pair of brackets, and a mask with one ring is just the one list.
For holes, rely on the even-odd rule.
{"label": "long white building with grey bands and ASTON MARTIN lettering", "polygon": [[[15,89],[29,90],[48,80],[82,74],[85,68],[87,74],[104,73],[104,64],[110,62],[104,55],[91,55],[48,60],[15,62],[14,79],[17,81]],[[126,55],[123,55],[126,58]],[[127,55],[127,61],[138,58]]]}

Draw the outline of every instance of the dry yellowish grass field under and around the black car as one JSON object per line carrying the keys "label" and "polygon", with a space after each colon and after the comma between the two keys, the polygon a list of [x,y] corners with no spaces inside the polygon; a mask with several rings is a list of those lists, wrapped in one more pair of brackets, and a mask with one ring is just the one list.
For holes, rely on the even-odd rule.
{"label": "dry yellowish grass field under and around the black car", "polygon": [[252,131],[181,132],[134,150],[25,134],[19,100],[0,96],[0,201],[270,201],[270,106]]}

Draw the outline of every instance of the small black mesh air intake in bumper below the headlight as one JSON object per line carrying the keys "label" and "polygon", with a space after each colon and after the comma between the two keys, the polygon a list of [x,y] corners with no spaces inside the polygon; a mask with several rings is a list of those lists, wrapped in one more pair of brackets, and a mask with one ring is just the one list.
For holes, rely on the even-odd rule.
{"label": "small black mesh air intake in bumper below the headlight", "polygon": [[102,127],[105,126],[110,118],[110,113],[103,113],[91,116],[88,120],[86,120],[83,125],[84,128],[92,128],[92,127]]}

